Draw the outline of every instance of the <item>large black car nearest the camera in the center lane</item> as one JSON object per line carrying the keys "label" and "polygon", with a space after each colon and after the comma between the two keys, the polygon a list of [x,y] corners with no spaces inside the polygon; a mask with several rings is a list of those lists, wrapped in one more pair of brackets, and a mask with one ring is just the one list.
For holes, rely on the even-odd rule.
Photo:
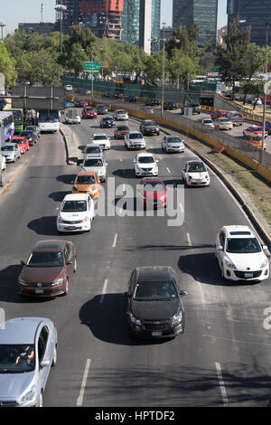
{"label": "large black car nearest the camera in the center lane", "polygon": [[184,332],[184,310],[179,278],[171,267],[134,269],[128,290],[126,319],[130,335],[169,338]]}

